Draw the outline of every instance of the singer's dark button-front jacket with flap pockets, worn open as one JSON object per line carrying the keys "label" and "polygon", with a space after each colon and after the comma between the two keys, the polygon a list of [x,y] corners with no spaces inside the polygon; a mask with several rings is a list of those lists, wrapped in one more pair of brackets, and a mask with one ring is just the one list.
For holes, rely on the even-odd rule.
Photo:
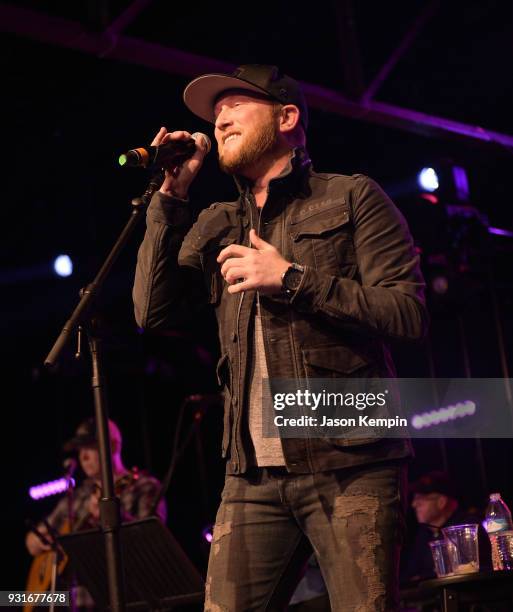
{"label": "singer's dark button-front jacket with flap pockets, worn open", "polygon": [[[138,324],[162,329],[200,301],[216,311],[218,364],[225,388],[223,456],[229,473],[253,463],[244,419],[255,292],[232,295],[216,258],[229,244],[249,244],[249,230],[289,261],[305,266],[290,300],[261,296],[269,377],[395,375],[387,340],[419,339],[426,330],[424,281],[407,224],[363,175],[319,174],[304,149],[269,185],[260,213],[237,179],[235,202],[212,204],[190,228],[188,204],[154,195],[134,286]],[[404,440],[284,439],[291,472],[305,473],[410,454]]]}

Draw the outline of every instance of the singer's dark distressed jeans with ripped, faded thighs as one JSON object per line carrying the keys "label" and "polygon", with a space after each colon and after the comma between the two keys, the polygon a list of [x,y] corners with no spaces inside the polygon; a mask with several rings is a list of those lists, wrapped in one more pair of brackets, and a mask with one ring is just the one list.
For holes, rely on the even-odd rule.
{"label": "singer's dark distressed jeans with ripped, faded thighs", "polygon": [[290,474],[227,475],[210,550],[205,610],[283,610],[315,552],[333,612],[398,609],[403,461]]}

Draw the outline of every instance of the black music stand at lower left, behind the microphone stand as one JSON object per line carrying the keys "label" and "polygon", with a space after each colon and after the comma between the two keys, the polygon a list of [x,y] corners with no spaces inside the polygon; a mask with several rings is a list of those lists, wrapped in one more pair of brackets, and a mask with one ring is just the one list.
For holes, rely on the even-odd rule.
{"label": "black music stand at lower left, behind the microphone stand", "polygon": [[[99,609],[109,608],[105,542],[100,529],[58,538]],[[121,548],[127,610],[173,610],[201,603],[204,582],[171,532],[156,517],[124,523]]]}

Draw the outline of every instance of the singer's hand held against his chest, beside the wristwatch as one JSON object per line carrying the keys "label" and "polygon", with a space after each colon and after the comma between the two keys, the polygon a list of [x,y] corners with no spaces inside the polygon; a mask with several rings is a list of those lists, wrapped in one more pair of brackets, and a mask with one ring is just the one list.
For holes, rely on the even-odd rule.
{"label": "singer's hand held against his chest, beside the wristwatch", "polygon": [[[278,249],[262,240],[255,230],[249,233],[251,244],[255,247],[231,244],[219,253],[217,261],[222,264],[221,274],[229,293],[239,293],[256,289],[260,293],[272,295],[281,291],[281,276],[290,266]],[[241,279],[242,282],[239,282]]]}

